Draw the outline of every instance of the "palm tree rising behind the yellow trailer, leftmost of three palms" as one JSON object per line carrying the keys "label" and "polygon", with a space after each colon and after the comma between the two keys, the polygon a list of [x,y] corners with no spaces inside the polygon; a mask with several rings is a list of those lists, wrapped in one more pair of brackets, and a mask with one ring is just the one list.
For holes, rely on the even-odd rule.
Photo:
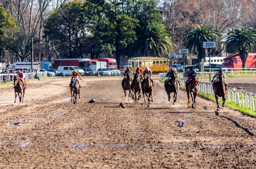
{"label": "palm tree rising behind the yellow trailer, leftmost of three palms", "polygon": [[138,36],[138,46],[144,56],[163,57],[173,50],[171,33],[162,24],[149,24],[146,33]]}

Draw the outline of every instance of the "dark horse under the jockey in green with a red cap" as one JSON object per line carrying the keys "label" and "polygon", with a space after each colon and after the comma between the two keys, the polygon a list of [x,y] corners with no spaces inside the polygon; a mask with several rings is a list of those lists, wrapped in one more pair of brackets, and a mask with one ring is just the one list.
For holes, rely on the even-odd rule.
{"label": "dark horse under the jockey in green with a red cap", "polygon": [[165,88],[165,91],[168,95],[168,101],[171,101],[171,96],[170,94],[172,92],[174,92],[173,94],[173,105],[175,105],[175,102],[177,100],[177,95],[178,95],[178,91],[179,91],[179,88],[180,88],[180,85],[178,84],[178,82],[176,82],[176,76],[175,76],[175,73],[172,73],[172,76],[169,78],[169,80],[165,80],[164,82],[164,88]]}

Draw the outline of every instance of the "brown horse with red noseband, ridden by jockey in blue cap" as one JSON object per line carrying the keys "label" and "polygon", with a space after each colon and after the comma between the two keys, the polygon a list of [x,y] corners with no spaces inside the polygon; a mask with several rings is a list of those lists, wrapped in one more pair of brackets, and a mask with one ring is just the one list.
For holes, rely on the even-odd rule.
{"label": "brown horse with red noseband, ridden by jockey in blue cap", "polygon": [[198,80],[197,80],[197,75],[193,74],[192,75],[192,79],[190,80],[189,83],[186,83],[186,91],[187,91],[187,95],[188,95],[188,103],[189,102],[189,93],[192,99],[192,108],[196,107],[196,95],[197,95],[197,91],[198,91]]}

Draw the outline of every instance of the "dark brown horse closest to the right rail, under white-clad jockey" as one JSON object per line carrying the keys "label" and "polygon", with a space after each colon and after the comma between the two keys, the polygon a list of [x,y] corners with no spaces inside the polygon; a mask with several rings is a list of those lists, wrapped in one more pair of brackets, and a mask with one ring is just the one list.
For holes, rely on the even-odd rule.
{"label": "dark brown horse closest to the right rail, under white-clad jockey", "polygon": [[226,100],[226,93],[227,93],[228,86],[224,85],[224,81],[225,79],[222,73],[219,77],[219,81],[214,82],[215,87],[213,87],[213,91],[214,91],[214,95],[217,103],[217,111],[220,110],[219,97],[222,97],[222,107],[225,107],[225,100]]}

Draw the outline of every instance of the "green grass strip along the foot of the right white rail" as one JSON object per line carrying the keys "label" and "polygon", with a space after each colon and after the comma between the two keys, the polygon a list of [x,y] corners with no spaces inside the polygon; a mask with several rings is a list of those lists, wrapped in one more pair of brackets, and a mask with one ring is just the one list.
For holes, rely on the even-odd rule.
{"label": "green grass strip along the foot of the right white rail", "polygon": [[[159,81],[164,83],[164,80],[162,80],[160,78],[159,78]],[[180,89],[186,91],[185,86],[180,86]],[[207,94],[207,93],[200,92],[200,91],[197,92],[197,95],[200,96],[203,99],[213,101],[214,103],[216,103],[216,99],[215,99],[214,95]],[[222,99],[221,98],[219,98],[219,103],[220,103],[220,106],[221,106],[222,105]],[[254,110],[252,110],[248,107],[239,107],[236,103],[234,103],[232,101],[228,101],[228,99],[226,99],[226,101],[225,101],[225,106],[229,107],[233,110],[239,111],[242,114],[249,115],[251,117],[256,118],[256,112]],[[252,105],[252,106],[254,106],[254,105]],[[215,108],[217,109],[217,104],[215,105]]]}

